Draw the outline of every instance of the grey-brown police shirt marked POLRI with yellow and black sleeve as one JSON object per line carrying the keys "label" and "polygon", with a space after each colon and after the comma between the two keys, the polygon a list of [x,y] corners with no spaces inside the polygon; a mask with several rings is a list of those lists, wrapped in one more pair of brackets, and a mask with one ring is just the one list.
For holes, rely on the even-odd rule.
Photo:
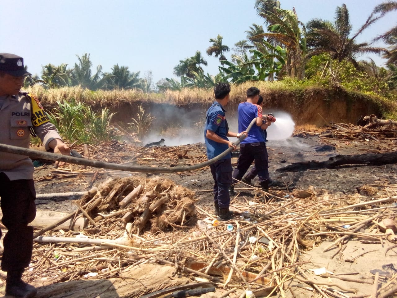
{"label": "grey-brown police shirt marked POLRI with yellow and black sleeve", "polygon": [[[55,126],[49,121],[41,104],[27,93],[7,96],[0,108],[0,143],[29,148],[30,127],[42,140],[46,150],[53,139],[61,139]],[[2,152],[0,172],[10,180],[33,179],[33,163],[27,156]]]}

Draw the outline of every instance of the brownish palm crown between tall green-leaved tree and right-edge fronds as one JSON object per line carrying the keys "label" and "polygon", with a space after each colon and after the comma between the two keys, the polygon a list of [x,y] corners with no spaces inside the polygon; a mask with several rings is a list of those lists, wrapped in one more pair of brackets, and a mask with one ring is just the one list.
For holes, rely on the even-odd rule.
{"label": "brownish palm crown between tall green-leaved tree and right-edge fronds", "polygon": [[384,48],[372,47],[368,43],[355,42],[356,37],[378,18],[371,14],[352,37],[350,37],[352,25],[345,4],[337,6],[333,23],[322,19],[310,20],[306,25],[307,46],[310,49],[309,56],[327,52],[331,55],[331,58],[337,59],[339,62],[347,59],[358,68],[357,55],[386,53],[387,51]]}

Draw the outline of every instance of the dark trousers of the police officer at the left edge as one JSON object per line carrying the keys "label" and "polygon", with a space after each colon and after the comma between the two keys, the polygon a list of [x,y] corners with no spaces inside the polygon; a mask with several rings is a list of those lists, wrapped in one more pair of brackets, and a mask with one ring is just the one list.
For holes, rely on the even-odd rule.
{"label": "dark trousers of the police officer at the left edge", "polygon": [[[36,191],[33,180],[10,180],[0,173],[2,223],[8,229],[4,237],[3,271],[18,271],[29,266],[33,251]],[[1,234],[0,234],[1,236]]]}

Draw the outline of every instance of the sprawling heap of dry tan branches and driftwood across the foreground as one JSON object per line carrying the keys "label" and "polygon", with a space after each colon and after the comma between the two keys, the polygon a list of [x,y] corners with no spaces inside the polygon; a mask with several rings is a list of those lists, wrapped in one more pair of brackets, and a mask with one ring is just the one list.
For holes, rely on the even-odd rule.
{"label": "sprawling heap of dry tan branches and driftwood across the foreground", "polygon": [[[397,275],[376,279],[363,273],[366,278],[352,279],[326,272],[324,279],[318,280],[309,270],[314,265],[307,267],[310,261],[302,254],[328,240],[324,252],[336,248],[335,257],[351,239],[383,243],[389,246],[386,254],[396,253],[396,246],[389,242],[393,239],[387,240],[390,235],[381,223],[396,215],[396,206],[390,205],[397,199],[396,189],[387,187],[387,195],[372,201],[360,195],[318,195],[308,189],[266,204],[260,202],[263,192],[257,190],[252,201],[232,201],[239,217],[214,226],[213,215],[194,208],[193,193],[171,180],[115,179],[103,184],[96,194],[80,199],[75,217],[88,219],[83,230],[52,229],[43,237],[40,235],[46,229],[37,232],[25,279],[48,279],[51,283],[90,276],[108,279],[151,262],[175,266],[196,279],[230,289],[226,296],[232,292],[240,296],[243,289],[254,291],[257,297],[274,292],[284,296],[295,282],[324,297],[365,297],[366,293],[358,290],[362,283],[376,283],[381,297],[396,290]],[[201,222],[196,226],[195,215],[203,219],[204,226]],[[227,224],[233,225],[232,231]],[[343,286],[338,279],[356,286]]]}

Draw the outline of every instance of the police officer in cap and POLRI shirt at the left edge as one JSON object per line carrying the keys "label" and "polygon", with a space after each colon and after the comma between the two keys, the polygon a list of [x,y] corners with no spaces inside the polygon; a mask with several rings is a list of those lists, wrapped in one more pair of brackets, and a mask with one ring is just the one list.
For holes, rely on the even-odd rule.
{"label": "police officer in cap and POLRI shirt at the left edge", "polygon": [[[23,67],[22,57],[0,53],[0,143],[29,148],[32,132],[47,150],[69,155],[69,147],[49,122],[40,102],[20,92],[26,75],[30,74]],[[33,250],[33,227],[29,226],[36,216],[33,171],[29,157],[0,153],[2,223],[8,229],[1,266],[7,271],[6,295],[23,298],[34,297],[37,292],[22,281]]]}

